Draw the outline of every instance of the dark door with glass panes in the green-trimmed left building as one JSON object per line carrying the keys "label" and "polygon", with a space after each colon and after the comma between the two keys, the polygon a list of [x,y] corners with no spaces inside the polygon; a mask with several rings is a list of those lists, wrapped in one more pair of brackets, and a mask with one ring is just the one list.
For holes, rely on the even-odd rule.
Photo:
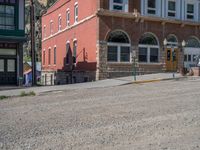
{"label": "dark door with glass panes in the green-trimmed left building", "polygon": [[0,58],[0,85],[16,85],[16,59]]}

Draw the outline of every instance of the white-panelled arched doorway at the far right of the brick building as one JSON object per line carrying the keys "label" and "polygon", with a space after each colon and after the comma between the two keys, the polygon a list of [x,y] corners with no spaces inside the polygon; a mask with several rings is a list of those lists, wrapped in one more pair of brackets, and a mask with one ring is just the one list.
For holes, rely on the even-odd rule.
{"label": "white-panelled arched doorway at the far right of the brick building", "polygon": [[196,66],[197,57],[200,56],[200,41],[197,37],[190,37],[184,48],[184,67],[189,70]]}

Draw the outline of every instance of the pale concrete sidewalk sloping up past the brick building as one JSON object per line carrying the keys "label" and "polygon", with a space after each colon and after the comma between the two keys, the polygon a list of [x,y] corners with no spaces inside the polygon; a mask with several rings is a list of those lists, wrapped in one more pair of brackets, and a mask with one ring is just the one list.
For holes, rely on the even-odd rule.
{"label": "pale concrete sidewalk sloping up past the brick building", "polygon": [[[175,79],[182,78],[180,74],[175,74]],[[172,73],[158,73],[158,74],[148,74],[137,76],[136,83],[154,82],[162,80],[172,80],[174,79]],[[0,96],[18,96],[21,92],[34,91],[37,95],[51,92],[51,91],[64,91],[64,90],[77,90],[77,89],[90,89],[90,88],[103,88],[103,87],[113,87],[125,84],[134,83],[134,77],[122,77],[115,79],[100,80],[95,82],[78,83],[78,84],[68,84],[59,86],[41,86],[41,87],[27,87],[13,90],[0,91]]]}

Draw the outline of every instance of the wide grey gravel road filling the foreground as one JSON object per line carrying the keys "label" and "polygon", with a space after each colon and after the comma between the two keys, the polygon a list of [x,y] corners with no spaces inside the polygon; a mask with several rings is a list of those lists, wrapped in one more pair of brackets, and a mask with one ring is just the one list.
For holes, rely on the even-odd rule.
{"label": "wide grey gravel road filling the foreground", "polygon": [[200,81],[0,101],[0,149],[200,150]]}

